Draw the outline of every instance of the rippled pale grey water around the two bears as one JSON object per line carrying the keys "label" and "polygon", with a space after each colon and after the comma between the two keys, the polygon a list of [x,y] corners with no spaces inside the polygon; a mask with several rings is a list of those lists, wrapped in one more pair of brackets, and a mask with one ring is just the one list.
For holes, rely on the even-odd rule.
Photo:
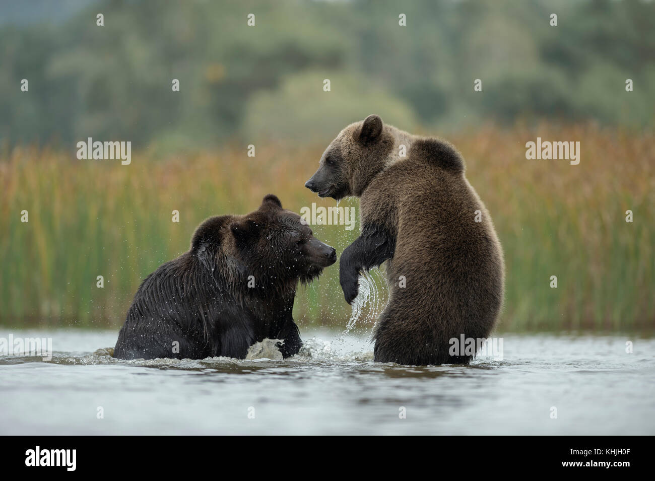
{"label": "rippled pale grey water around the two bears", "polygon": [[51,336],[54,355],[0,356],[1,435],[655,434],[653,339],[506,335],[502,361],[412,367],[303,329],[286,361],[118,361],[96,351],[115,331],[9,334]]}

